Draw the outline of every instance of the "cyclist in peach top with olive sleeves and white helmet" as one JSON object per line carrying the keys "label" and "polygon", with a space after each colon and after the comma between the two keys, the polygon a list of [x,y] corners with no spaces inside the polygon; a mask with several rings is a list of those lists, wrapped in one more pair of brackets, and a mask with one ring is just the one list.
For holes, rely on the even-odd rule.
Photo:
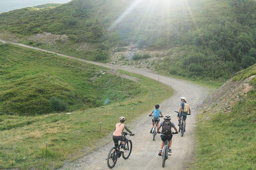
{"label": "cyclist in peach top with olive sleeves and white helmet", "polygon": [[131,130],[129,130],[126,125],[124,125],[124,121],[125,121],[125,118],[124,118],[124,117],[121,116],[121,117],[119,118],[119,121],[120,121],[120,123],[117,123],[117,124],[116,124],[115,131],[114,131],[114,133],[113,133],[113,137],[112,137],[112,138],[113,138],[113,141],[114,141],[114,143],[115,143],[115,147],[118,146],[118,140],[122,141],[120,151],[121,151],[121,152],[124,152],[123,147],[124,147],[124,141],[126,140],[125,136],[122,135],[122,133],[123,133],[123,131],[124,131],[124,128],[125,128],[129,133],[131,133],[132,135],[134,135],[134,133],[133,133]]}

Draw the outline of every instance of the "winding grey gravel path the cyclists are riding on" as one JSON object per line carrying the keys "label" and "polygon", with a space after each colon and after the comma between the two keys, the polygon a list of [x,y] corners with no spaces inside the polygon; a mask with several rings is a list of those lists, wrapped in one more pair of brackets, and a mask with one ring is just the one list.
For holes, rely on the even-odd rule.
{"label": "winding grey gravel path the cyclists are riding on", "polygon": [[[6,42],[1,40],[2,42]],[[12,42],[11,42],[12,43]],[[14,43],[21,46],[34,48],[38,50],[43,50],[47,52],[51,52],[48,50],[32,47],[25,44]],[[52,52],[56,53],[56,52]],[[187,163],[193,160],[193,150],[195,146],[195,119],[197,110],[200,109],[203,100],[207,97],[208,89],[205,89],[199,85],[191,84],[188,81],[175,79],[167,76],[162,76],[156,73],[147,72],[143,70],[137,70],[132,68],[120,68],[109,64],[99,63],[95,61],[89,61],[77,57],[72,57],[68,55],[63,55],[56,53],[58,55],[74,58],[78,60],[82,60],[85,62],[102,65],[104,67],[112,68],[112,69],[122,69],[125,71],[137,73],[140,75],[144,75],[151,79],[155,79],[164,83],[171,85],[172,88],[175,89],[175,94],[169,98],[168,100],[160,103],[160,110],[163,114],[170,114],[174,125],[177,127],[177,113],[174,111],[178,111],[180,107],[179,97],[186,97],[186,101],[190,105],[191,116],[187,118],[187,126],[186,132],[184,136],[181,137],[180,133],[173,135],[172,139],[172,155],[168,157],[165,163],[165,169],[173,169],[173,170],[182,170],[185,169]],[[152,108],[153,110],[153,108]],[[122,157],[117,161],[115,167],[113,169],[119,170],[127,170],[127,169],[162,169],[162,157],[158,156],[158,152],[160,150],[161,138],[160,135],[156,135],[155,141],[152,140],[153,135],[149,133],[151,128],[151,119],[152,117],[148,116],[149,113],[142,114],[143,116],[138,118],[133,127],[130,128],[132,132],[135,133],[135,136],[129,136],[133,143],[132,153],[129,159],[124,160]],[[163,118],[161,118],[161,121]],[[79,158],[74,162],[66,162],[64,163],[61,170],[64,169],[109,169],[107,167],[107,154],[109,149],[113,146],[111,135],[108,136],[108,144],[104,147],[101,147],[100,150],[95,151],[93,154],[89,154]]]}

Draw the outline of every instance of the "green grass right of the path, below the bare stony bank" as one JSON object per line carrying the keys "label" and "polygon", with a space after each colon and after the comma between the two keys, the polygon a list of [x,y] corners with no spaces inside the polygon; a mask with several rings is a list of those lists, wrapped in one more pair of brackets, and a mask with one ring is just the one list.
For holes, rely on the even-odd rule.
{"label": "green grass right of the path, below the bare stony bank", "polygon": [[231,106],[230,113],[209,110],[198,115],[196,160],[188,170],[255,169],[256,90],[247,95]]}

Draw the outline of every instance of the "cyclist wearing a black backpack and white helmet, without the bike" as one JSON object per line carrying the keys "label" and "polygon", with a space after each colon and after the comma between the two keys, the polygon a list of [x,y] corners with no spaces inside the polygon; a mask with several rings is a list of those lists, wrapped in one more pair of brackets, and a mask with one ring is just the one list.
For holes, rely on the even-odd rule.
{"label": "cyclist wearing a black backpack and white helmet, without the bike", "polygon": [[164,116],[164,121],[160,123],[159,127],[157,128],[157,133],[159,132],[159,129],[162,127],[162,134],[161,134],[161,139],[162,139],[162,143],[161,143],[161,148],[160,151],[158,153],[159,156],[162,156],[162,149],[164,147],[164,143],[166,140],[168,140],[168,144],[169,144],[169,149],[168,152],[172,153],[172,149],[171,149],[171,145],[172,145],[172,131],[171,128],[175,129],[175,134],[178,134],[178,130],[175,127],[175,125],[171,122],[171,116],[170,115],[165,115]]}

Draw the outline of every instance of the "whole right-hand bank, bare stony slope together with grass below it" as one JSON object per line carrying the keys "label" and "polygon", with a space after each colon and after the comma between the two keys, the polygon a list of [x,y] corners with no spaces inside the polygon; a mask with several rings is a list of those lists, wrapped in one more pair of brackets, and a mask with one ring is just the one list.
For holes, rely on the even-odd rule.
{"label": "whole right-hand bank, bare stony slope together with grass below it", "polygon": [[[236,73],[215,92],[219,103],[204,107],[196,126],[196,160],[189,170],[255,169],[256,166],[256,65]],[[251,77],[247,80],[247,78]],[[241,81],[239,81],[242,78]],[[246,79],[246,80],[244,80]],[[240,84],[237,84],[237,81]],[[251,89],[251,90],[248,90]],[[216,101],[216,100],[213,100]]]}

